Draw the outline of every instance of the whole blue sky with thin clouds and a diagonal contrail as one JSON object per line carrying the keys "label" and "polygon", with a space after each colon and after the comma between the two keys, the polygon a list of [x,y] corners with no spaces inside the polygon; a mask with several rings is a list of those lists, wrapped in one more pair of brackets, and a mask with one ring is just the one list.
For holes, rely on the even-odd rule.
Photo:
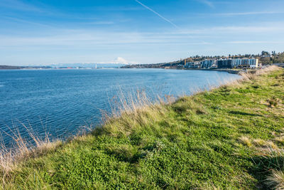
{"label": "whole blue sky with thin clouds and a diagonal contrail", "polygon": [[0,65],[284,51],[283,0],[0,0]]}

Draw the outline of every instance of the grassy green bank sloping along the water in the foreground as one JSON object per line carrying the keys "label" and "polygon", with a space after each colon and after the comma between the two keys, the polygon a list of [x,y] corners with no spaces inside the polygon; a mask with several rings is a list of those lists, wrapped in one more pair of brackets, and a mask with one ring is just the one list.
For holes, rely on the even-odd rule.
{"label": "grassy green bank sloping along the water in the foreground", "polygon": [[3,172],[2,187],[273,188],[276,182],[266,186],[271,169],[278,177],[284,169],[283,154],[271,154],[284,146],[283,104],[284,70],[274,70],[171,104],[124,112],[91,134],[17,162]]}

